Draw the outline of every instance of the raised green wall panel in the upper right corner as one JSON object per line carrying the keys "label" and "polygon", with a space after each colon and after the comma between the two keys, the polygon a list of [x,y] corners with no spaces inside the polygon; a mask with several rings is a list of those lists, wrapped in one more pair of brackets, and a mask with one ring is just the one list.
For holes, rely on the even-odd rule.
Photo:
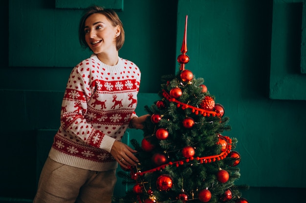
{"label": "raised green wall panel in the upper right corner", "polygon": [[270,98],[306,100],[305,0],[274,0]]}

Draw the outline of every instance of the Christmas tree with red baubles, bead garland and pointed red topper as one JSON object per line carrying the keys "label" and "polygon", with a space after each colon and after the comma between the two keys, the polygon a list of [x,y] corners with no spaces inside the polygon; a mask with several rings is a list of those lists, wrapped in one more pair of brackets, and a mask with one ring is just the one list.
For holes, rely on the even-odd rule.
{"label": "Christmas tree with red baubles, bead garland and pointed red topper", "polygon": [[162,76],[160,100],[145,106],[137,150],[138,166],[119,171],[123,184],[131,185],[118,203],[248,203],[241,197],[246,185],[234,185],[240,177],[238,140],[230,131],[221,104],[207,91],[203,78],[185,69],[187,16],[181,54],[175,75]]}

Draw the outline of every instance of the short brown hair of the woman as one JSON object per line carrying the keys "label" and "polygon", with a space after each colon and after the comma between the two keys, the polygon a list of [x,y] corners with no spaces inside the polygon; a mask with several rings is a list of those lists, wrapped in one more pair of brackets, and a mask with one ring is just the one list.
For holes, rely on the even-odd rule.
{"label": "short brown hair of the woman", "polygon": [[103,14],[104,16],[106,16],[110,20],[111,24],[114,27],[119,25],[121,33],[118,37],[116,37],[116,49],[117,49],[117,51],[119,51],[124,44],[124,37],[125,36],[124,36],[123,24],[122,24],[120,18],[118,17],[118,15],[116,14],[116,12],[114,10],[104,9],[103,7],[97,6],[97,5],[88,7],[87,10],[85,11],[83,17],[80,20],[79,41],[80,41],[81,46],[85,49],[89,48],[88,45],[87,45],[87,42],[85,40],[85,31],[84,31],[85,21],[90,15],[95,14],[95,13],[100,13],[100,14]]}

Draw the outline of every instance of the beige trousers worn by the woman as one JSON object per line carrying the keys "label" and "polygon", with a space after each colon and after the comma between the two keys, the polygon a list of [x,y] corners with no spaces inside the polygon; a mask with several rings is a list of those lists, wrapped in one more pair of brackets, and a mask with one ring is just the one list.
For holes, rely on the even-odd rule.
{"label": "beige trousers worn by the woman", "polygon": [[91,171],[48,158],[33,203],[111,203],[116,181],[116,169]]}

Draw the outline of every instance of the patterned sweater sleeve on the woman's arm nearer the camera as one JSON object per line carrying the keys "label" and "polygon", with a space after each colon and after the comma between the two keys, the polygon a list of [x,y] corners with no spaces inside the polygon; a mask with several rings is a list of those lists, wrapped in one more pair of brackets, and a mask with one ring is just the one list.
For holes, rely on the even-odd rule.
{"label": "patterned sweater sleeve on the woman's arm nearer the camera", "polygon": [[95,85],[91,84],[90,71],[84,74],[85,61],[77,65],[69,75],[62,102],[61,127],[70,136],[96,148],[110,152],[114,138],[93,128],[87,122],[87,102],[94,92]]}

